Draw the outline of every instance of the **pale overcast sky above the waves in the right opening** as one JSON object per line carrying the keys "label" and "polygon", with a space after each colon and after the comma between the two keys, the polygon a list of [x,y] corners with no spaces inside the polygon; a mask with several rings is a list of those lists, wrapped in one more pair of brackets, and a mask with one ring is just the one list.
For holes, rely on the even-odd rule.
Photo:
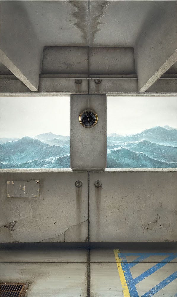
{"label": "pale overcast sky above the waves in the right opening", "polygon": [[177,96],[107,97],[107,134],[133,134],[165,125],[177,128]]}

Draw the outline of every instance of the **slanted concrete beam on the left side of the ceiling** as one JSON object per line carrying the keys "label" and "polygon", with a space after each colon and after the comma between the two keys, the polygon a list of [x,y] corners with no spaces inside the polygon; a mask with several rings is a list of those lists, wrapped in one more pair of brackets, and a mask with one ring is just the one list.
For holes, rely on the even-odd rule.
{"label": "slanted concrete beam on the left side of the ceiling", "polygon": [[37,91],[42,47],[20,2],[1,0],[0,61],[31,91]]}

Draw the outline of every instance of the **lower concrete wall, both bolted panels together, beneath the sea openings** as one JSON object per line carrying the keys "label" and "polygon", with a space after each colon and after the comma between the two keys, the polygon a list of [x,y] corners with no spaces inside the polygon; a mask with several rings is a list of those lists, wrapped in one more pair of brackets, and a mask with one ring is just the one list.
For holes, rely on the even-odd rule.
{"label": "lower concrete wall, both bolted panels together, beneath the sea openings", "polygon": [[[1,171],[1,242],[88,241],[88,198],[90,241],[177,241],[176,169],[92,171],[89,196],[87,172]],[[40,196],[7,197],[7,181],[22,180],[39,180]]]}

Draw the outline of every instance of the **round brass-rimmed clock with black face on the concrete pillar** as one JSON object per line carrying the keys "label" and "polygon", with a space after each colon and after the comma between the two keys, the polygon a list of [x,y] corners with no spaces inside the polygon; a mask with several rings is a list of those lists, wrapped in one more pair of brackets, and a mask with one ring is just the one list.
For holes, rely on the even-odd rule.
{"label": "round brass-rimmed clock with black face on the concrete pillar", "polygon": [[96,125],[98,116],[95,111],[91,109],[83,110],[79,116],[80,124],[85,128],[91,128]]}

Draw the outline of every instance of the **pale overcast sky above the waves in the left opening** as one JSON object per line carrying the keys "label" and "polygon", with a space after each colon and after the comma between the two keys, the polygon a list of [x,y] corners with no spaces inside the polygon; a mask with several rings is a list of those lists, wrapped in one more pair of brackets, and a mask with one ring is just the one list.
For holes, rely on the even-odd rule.
{"label": "pale overcast sky above the waves in the left opening", "polygon": [[0,138],[70,135],[70,96],[0,98]]}

